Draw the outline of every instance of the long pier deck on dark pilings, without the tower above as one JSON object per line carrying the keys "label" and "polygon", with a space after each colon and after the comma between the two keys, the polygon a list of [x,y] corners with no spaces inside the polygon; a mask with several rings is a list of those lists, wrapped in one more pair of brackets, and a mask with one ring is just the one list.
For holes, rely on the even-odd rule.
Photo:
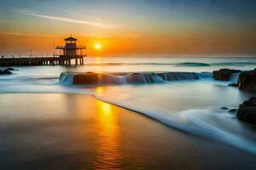
{"label": "long pier deck on dark pilings, without the tower above", "polygon": [[75,60],[75,65],[84,65],[84,57],[87,55],[76,56],[52,56],[52,57],[12,57],[0,58],[0,66],[22,66],[22,65],[71,65],[71,60]]}

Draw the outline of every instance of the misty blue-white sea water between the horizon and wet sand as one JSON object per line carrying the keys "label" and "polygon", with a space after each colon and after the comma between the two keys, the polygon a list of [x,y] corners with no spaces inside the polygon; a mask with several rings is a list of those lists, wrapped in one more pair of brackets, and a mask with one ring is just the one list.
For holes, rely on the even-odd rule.
{"label": "misty blue-white sea water between the horizon and wet sand", "polygon": [[[256,134],[253,127],[236,119],[235,113],[221,107],[237,109],[253,93],[229,87],[237,82],[215,81],[212,71],[220,68],[252,70],[256,58],[183,58],[183,57],[88,57],[85,65],[15,67],[13,75],[0,77],[1,93],[65,93],[90,94],[97,99],[137,111],[166,126],[201,135],[241,150],[256,154]],[[195,72],[199,79],[156,81],[156,83],[106,83],[73,85],[72,77],[60,81],[61,72],[96,71],[116,75],[118,72]],[[118,76],[117,76],[118,77]],[[123,80],[123,77],[118,77]],[[154,82],[154,81],[153,81]]]}

